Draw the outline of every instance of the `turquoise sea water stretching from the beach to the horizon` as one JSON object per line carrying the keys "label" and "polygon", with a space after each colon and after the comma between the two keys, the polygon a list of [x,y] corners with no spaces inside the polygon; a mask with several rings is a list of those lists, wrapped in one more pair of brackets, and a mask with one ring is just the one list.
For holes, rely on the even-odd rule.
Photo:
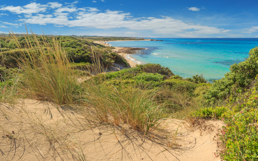
{"label": "turquoise sea water stretching from the beach to the horizon", "polygon": [[159,63],[183,78],[203,74],[209,82],[224,77],[230,65],[244,61],[250,49],[258,46],[258,38],[151,39],[163,41],[117,41],[109,44],[146,48],[127,56],[143,64]]}

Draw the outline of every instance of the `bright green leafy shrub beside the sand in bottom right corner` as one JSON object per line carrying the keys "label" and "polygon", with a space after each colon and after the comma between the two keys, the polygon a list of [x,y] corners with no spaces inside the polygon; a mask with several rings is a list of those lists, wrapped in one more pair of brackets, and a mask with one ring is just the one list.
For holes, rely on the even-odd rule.
{"label": "bright green leafy shrub beside the sand in bottom right corner", "polygon": [[[258,128],[255,111],[230,119],[222,130],[223,160],[258,160]],[[256,116],[257,117],[257,116]]]}

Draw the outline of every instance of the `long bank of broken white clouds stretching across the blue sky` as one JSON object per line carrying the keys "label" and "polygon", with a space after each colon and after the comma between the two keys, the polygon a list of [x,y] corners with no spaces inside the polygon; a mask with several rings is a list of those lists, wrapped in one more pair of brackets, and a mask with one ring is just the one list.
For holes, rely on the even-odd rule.
{"label": "long bank of broken white clouds stretching across the blue sky", "polygon": [[[68,26],[96,29],[125,28],[128,30],[127,32],[148,31],[153,34],[182,37],[224,34],[230,31],[223,28],[193,24],[165,16],[159,18],[133,17],[131,13],[125,13],[123,11],[106,10],[103,12],[97,8],[82,6],[80,6],[81,8],[77,8],[73,5],[75,3],[78,3],[78,1],[69,3],[69,6],[63,6],[57,2],[47,3],[47,5],[30,3],[25,6],[0,7],[0,10],[8,10],[17,14],[25,13],[24,18],[18,21],[39,25],[53,24],[55,27]],[[54,9],[54,11],[52,9]],[[200,9],[191,7],[189,10],[197,11]]]}

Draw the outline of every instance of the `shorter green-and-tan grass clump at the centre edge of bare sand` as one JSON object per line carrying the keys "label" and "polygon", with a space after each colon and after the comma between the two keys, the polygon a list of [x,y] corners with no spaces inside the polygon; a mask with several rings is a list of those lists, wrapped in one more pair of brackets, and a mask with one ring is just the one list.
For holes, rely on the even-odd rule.
{"label": "shorter green-and-tan grass clump at the centre edge of bare sand", "polygon": [[94,84],[87,89],[83,102],[91,107],[88,112],[93,115],[90,116],[101,122],[113,125],[127,123],[147,134],[164,119],[164,104],[155,99],[157,92],[153,90],[140,90],[134,86],[118,90]]}

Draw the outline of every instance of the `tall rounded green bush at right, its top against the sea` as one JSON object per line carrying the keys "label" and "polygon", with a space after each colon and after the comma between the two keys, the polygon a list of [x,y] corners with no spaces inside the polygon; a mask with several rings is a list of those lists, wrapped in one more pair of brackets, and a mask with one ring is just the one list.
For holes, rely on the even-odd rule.
{"label": "tall rounded green bush at right, its top against the sea", "polygon": [[258,47],[255,47],[250,50],[249,57],[245,61],[230,66],[230,72],[225,74],[225,78],[214,81],[205,98],[210,102],[226,99],[236,90],[242,91],[251,85],[257,74]]}

